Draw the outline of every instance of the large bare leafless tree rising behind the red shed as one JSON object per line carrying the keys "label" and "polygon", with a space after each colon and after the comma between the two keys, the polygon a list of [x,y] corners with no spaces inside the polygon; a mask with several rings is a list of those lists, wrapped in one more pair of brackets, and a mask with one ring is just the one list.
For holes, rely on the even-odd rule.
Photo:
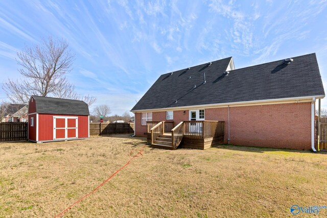
{"label": "large bare leafless tree rising behind the red shed", "polygon": [[[3,89],[13,103],[27,103],[31,95],[54,96],[82,100],[85,97],[75,92],[73,84],[65,75],[72,70],[74,54],[68,49],[68,42],[63,39],[42,40],[41,45],[29,47],[17,53],[16,59],[23,79],[8,79]],[[86,96],[89,106],[96,101]]]}

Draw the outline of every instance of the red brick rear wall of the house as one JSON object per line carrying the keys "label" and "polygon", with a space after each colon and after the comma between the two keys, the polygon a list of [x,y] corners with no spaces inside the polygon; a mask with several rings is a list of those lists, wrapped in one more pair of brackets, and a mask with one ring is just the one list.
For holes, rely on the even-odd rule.
{"label": "red brick rear wall of the house", "polygon": [[[311,149],[311,103],[230,107],[230,144],[269,148]],[[185,111],[185,114],[183,114]],[[154,121],[166,120],[166,112],[153,112]],[[174,111],[175,126],[189,119],[188,110]],[[228,138],[228,108],[205,109],[205,120],[225,122]],[[136,135],[144,136],[141,113],[135,114]]]}

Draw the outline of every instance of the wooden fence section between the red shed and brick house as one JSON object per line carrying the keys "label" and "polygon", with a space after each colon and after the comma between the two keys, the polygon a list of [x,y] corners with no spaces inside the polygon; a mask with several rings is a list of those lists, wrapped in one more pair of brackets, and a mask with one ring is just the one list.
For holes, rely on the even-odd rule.
{"label": "wooden fence section between the red shed and brick house", "polygon": [[134,133],[133,123],[90,123],[90,135]]}

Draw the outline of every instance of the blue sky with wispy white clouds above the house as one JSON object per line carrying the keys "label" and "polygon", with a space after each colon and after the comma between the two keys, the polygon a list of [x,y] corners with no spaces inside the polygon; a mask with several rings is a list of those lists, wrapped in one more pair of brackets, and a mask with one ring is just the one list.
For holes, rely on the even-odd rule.
{"label": "blue sky with wispy white clouds above the house", "polygon": [[[316,53],[327,87],[327,1],[0,1],[0,75],[49,35],[76,54],[69,81],[111,114],[161,74],[232,56],[236,68]],[[327,99],[327,98],[326,98]],[[0,90],[0,100],[6,101]],[[327,101],[322,101],[327,108]]]}

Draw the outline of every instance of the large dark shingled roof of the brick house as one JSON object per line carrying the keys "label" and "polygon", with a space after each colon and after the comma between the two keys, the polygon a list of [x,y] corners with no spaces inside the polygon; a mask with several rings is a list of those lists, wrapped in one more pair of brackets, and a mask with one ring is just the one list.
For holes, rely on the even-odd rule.
{"label": "large dark shingled roof of the brick house", "polygon": [[161,75],[132,111],[324,96],[315,54],[294,57],[290,64],[283,59],[229,70],[226,76],[230,59]]}

